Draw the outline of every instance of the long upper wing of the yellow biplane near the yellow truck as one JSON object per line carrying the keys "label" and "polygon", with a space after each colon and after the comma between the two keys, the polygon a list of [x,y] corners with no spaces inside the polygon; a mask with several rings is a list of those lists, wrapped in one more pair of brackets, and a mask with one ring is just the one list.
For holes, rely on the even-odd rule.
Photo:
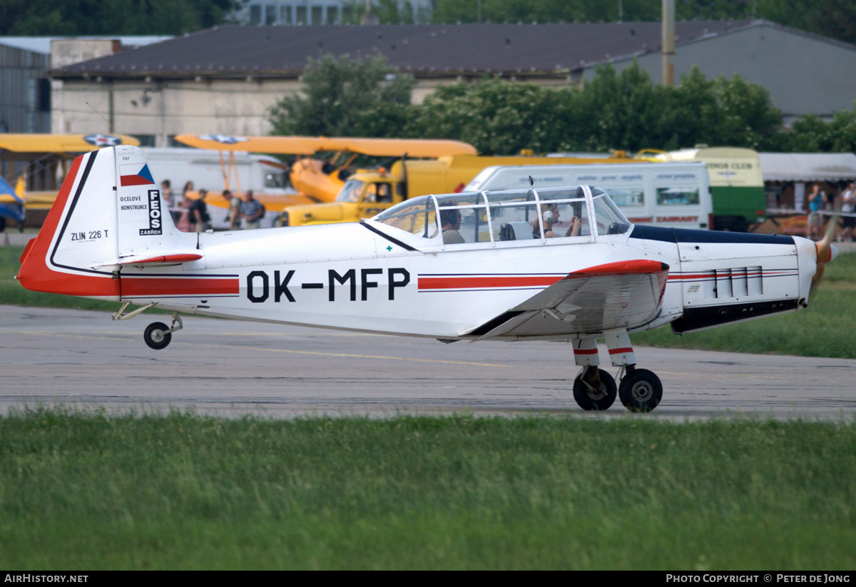
{"label": "long upper wing of the yellow biplane near the yellow truck", "polygon": [[473,145],[445,139],[360,139],[348,137],[232,137],[224,134],[179,134],[184,145],[214,151],[247,151],[278,155],[312,155],[318,151],[349,151],[374,157],[443,157],[475,155]]}

